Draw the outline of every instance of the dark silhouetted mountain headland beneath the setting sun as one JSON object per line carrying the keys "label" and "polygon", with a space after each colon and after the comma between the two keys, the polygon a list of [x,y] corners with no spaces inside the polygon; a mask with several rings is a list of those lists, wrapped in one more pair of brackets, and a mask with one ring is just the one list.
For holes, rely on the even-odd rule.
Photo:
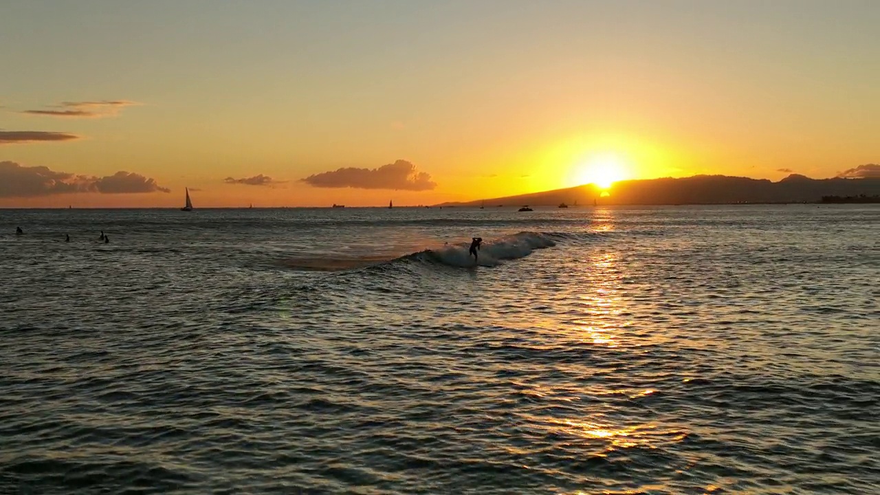
{"label": "dark silhouetted mountain headland beneath the setting sun", "polygon": [[880,177],[810,179],[799,174],[781,181],[694,175],[680,179],[615,182],[605,191],[593,184],[519,196],[484,198],[437,206],[556,206],[567,204],[737,204],[737,203],[878,203]]}

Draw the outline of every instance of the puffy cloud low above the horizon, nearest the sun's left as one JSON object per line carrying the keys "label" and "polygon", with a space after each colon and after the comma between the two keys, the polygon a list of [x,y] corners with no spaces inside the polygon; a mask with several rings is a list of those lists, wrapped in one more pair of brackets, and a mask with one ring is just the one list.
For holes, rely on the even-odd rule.
{"label": "puffy cloud low above the horizon, nearest the sun's left", "polygon": [[378,168],[347,167],[309,175],[304,181],[316,188],[359,188],[359,189],[405,189],[425,191],[436,188],[436,182],[424,172],[417,172],[415,166],[399,159],[394,163]]}

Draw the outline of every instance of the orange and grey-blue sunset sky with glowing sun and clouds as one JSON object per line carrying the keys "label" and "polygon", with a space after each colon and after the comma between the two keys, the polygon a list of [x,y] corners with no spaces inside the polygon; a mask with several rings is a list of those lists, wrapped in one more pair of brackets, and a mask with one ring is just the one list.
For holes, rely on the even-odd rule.
{"label": "orange and grey-blue sunset sky with glowing sun and clouds", "polygon": [[880,163],[878,25],[876,0],[10,0],[0,207],[834,177]]}

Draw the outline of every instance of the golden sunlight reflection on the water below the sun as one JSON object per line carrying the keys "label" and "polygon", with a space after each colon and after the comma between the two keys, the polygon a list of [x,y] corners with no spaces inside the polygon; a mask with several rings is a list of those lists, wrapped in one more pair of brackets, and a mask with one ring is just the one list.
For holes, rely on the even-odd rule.
{"label": "golden sunlight reflection on the water below the sun", "polygon": [[[612,233],[616,230],[615,211],[598,209],[594,213],[591,229],[596,233]],[[554,318],[540,321],[538,327],[545,332],[549,340],[557,345],[589,345],[594,351],[620,353],[621,357],[640,352],[642,347],[650,348],[662,345],[661,336],[639,336],[634,338],[633,315],[637,310],[627,307],[628,299],[623,297],[627,291],[624,280],[627,277],[627,266],[620,263],[621,254],[614,249],[601,252],[590,252],[582,259],[569,262],[566,271],[585,277],[585,283],[579,285],[576,296],[577,317],[560,327]],[[566,312],[566,314],[570,314]],[[569,368],[571,374],[589,374],[588,369],[570,369],[575,366],[558,365],[558,368]],[[574,409],[583,410],[580,414],[568,414],[557,417],[554,414],[535,414],[525,418],[535,425],[542,434],[564,440],[564,445],[577,455],[585,458],[605,458],[612,454],[626,455],[628,449],[657,449],[670,447],[687,437],[687,432],[670,425],[658,425],[655,422],[636,422],[631,418],[597,411],[595,402],[620,400],[637,403],[640,399],[654,395],[660,390],[638,386],[613,386],[602,381],[584,383],[581,388],[571,388],[565,383],[559,388],[552,385],[541,385],[531,390],[531,394],[541,397],[547,402],[575,404]],[[576,403],[586,404],[577,408]],[[611,409],[611,408],[609,408]],[[662,480],[657,480],[660,483]],[[655,488],[663,488],[657,484]],[[585,493],[645,493],[650,487],[642,486],[633,491],[576,491]],[[715,485],[705,487],[704,493],[717,490]]]}

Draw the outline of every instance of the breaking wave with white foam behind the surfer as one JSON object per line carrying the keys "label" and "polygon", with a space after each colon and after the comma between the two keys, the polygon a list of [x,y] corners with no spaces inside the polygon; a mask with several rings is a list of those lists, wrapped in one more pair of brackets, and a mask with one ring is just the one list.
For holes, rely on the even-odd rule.
{"label": "breaking wave with white foam behind the surfer", "polygon": [[477,262],[470,255],[470,243],[444,244],[442,247],[424,249],[409,255],[387,258],[376,255],[352,257],[304,257],[288,258],[282,266],[304,271],[343,271],[358,269],[386,270],[401,263],[428,263],[454,268],[473,266],[492,267],[502,262],[531,255],[537,249],[556,246],[558,240],[568,239],[566,233],[521,232],[495,240],[484,240],[478,252]]}

